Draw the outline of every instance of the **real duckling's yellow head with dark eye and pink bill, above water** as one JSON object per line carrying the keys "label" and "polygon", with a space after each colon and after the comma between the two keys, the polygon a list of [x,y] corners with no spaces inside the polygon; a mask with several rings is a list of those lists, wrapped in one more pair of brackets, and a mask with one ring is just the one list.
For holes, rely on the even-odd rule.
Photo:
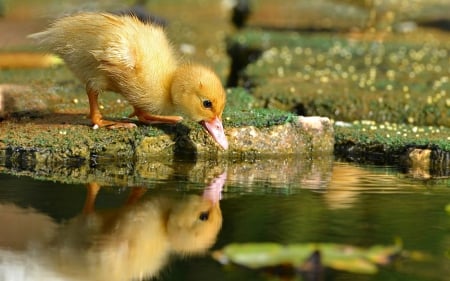
{"label": "real duckling's yellow head with dark eye and pink bill, above water", "polygon": [[179,66],[173,76],[171,97],[176,111],[199,122],[223,149],[228,148],[222,125],[225,91],[213,71],[195,64]]}

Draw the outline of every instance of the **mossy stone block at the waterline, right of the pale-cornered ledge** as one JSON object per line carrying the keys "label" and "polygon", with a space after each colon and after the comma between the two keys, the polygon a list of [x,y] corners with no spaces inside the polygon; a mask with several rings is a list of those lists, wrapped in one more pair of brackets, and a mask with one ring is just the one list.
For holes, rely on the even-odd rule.
{"label": "mossy stone block at the waterline, right of the pale-cornered ledge", "polygon": [[414,177],[450,176],[450,129],[375,121],[337,122],[335,155],[355,162],[400,164]]}

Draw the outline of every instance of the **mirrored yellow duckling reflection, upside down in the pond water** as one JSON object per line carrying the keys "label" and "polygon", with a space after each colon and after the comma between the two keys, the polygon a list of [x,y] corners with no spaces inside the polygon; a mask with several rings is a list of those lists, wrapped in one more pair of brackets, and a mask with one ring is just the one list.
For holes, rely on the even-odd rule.
{"label": "mirrored yellow duckling reflection, upside down in the pond water", "polygon": [[64,280],[156,276],[172,254],[201,254],[213,245],[222,225],[219,199],[225,179],[220,175],[202,196],[178,199],[143,198],[144,189],[135,188],[122,208],[110,211],[94,210],[99,186],[90,184],[83,214],[59,225],[50,239],[34,241],[27,258],[34,256]]}

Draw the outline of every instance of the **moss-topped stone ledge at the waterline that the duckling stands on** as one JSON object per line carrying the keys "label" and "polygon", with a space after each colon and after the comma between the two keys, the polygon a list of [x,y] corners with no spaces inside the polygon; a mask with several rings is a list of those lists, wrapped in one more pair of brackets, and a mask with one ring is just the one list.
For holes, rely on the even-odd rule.
{"label": "moss-topped stone ledge at the waterline that the duckling stands on", "polygon": [[[230,143],[226,151],[219,148],[200,125],[190,121],[176,125],[138,124],[131,130],[95,130],[86,115],[39,111],[32,117],[13,114],[0,123],[0,143],[7,161],[32,158],[33,162],[47,165],[95,164],[102,157],[134,162],[174,155],[205,158],[332,154],[333,126],[327,118],[301,118],[279,110],[253,108],[252,98],[241,89],[230,91],[228,99],[223,116]],[[113,108],[113,105],[108,106],[108,110]],[[123,114],[120,112],[122,107],[119,113],[112,115],[118,118]]]}

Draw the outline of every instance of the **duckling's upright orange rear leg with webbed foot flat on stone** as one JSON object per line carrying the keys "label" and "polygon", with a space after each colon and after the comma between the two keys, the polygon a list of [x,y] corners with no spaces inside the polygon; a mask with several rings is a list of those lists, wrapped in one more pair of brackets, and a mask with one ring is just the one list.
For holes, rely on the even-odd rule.
{"label": "duckling's upright orange rear leg with webbed foot flat on stone", "polygon": [[90,117],[92,123],[99,127],[107,127],[108,129],[117,128],[134,128],[136,124],[129,122],[114,122],[103,120],[102,114],[98,106],[98,90],[96,90],[91,82],[86,83],[86,93],[89,98]]}

